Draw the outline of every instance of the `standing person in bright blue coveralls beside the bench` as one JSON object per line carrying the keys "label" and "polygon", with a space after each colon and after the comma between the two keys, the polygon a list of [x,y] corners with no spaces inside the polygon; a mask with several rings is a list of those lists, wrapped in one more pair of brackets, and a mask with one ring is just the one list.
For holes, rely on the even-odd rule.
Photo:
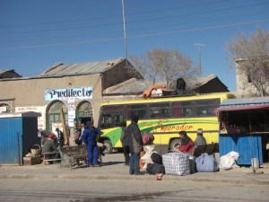
{"label": "standing person in bright blue coveralls beside the bench", "polygon": [[102,131],[93,127],[93,123],[91,121],[86,122],[86,127],[82,134],[82,142],[87,145],[89,167],[100,167],[98,164],[99,148],[96,139],[97,136],[102,134]]}

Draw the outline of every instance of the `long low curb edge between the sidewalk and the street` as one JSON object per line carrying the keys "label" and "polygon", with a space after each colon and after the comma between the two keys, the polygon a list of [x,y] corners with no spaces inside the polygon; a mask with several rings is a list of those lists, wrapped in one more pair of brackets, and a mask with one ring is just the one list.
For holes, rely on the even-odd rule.
{"label": "long low curb edge between the sidewalk and the street", "polygon": [[[175,178],[176,177],[176,178]],[[0,175],[0,179],[13,179],[13,180],[30,180],[30,179],[65,179],[65,180],[74,180],[74,179],[83,179],[83,180],[155,180],[154,175],[142,175],[142,176],[123,176],[123,175]],[[194,181],[194,182],[215,182],[215,183],[230,183],[237,185],[269,185],[269,180],[256,180],[251,179],[227,179],[227,178],[215,178],[208,179],[204,177],[187,177],[187,176],[172,176],[164,175],[162,180],[169,181]]]}

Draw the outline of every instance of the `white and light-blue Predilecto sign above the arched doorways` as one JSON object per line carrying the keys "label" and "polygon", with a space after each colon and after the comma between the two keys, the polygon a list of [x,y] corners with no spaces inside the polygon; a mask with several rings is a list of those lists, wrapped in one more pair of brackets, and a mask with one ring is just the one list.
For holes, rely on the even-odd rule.
{"label": "white and light-blue Predilecto sign above the arched doorways", "polygon": [[92,99],[92,87],[46,89],[45,101]]}

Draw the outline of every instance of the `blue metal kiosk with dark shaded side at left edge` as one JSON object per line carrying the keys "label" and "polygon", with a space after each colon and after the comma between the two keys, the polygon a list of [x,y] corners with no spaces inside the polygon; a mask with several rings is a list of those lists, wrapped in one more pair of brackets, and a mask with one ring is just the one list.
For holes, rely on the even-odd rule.
{"label": "blue metal kiosk with dark shaded side at left edge", "polygon": [[0,163],[22,165],[23,156],[32,145],[40,145],[38,118],[13,116],[0,117]]}

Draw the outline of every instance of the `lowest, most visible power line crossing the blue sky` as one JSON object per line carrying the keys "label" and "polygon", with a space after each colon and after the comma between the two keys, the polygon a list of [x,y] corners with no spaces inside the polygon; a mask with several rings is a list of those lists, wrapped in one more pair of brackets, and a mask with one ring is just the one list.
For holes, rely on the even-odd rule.
{"label": "lowest, most visible power line crossing the blue sky", "polygon": [[[189,29],[189,30],[183,30],[183,31],[168,31],[168,32],[143,34],[143,35],[138,35],[138,36],[130,36],[130,37],[127,37],[127,39],[138,39],[138,38],[144,38],[144,37],[169,35],[169,34],[174,34],[174,33],[212,30],[212,29],[218,29],[218,28],[224,28],[224,27],[239,26],[239,25],[245,25],[245,24],[250,24],[250,23],[268,22],[268,21],[269,21],[269,18],[263,19],[263,20],[251,21],[251,22],[239,22],[239,23],[232,23],[232,24],[215,25],[215,26],[210,26],[210,27]],[[123,38],[110,38],[110,39],[102,39],[102,40],[85,40],[85,41],[75,41],[75,42],[70,42],[70,43],[58,43],[58,44],[47,44],[47,45],[25,46],[25,47],[7,47],[7,48],[0,48],[0,50],[22,49],[22,48],[45,48],[45,47],[66,46],[66,45],[85,44],[85,43],[94,43],[94,42],[103,42],[103,41],[112,41],[112,40],[123,40]]]}

